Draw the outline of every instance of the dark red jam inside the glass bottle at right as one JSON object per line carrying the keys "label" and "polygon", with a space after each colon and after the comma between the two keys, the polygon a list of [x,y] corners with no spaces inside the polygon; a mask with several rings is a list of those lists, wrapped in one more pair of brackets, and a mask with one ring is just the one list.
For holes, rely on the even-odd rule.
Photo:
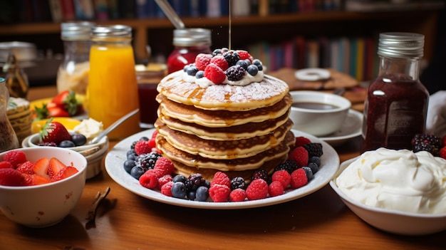
{"label": "dark red jam inside the glass bottle at right", "polygon": [[381,75],[368,88],[363,120],[363,150],[410,149],[425,131],[429,93],[419,80]]}

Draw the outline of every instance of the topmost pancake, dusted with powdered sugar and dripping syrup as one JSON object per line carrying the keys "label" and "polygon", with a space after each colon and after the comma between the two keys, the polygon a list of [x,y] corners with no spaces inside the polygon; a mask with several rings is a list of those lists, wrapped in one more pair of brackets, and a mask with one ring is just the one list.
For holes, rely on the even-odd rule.
{"label": "topmost pancake, dusted with powdered sugar and dripping syrup", "polygon": [[249,85],[216,84],[202,88],[183,80],[183,71],[167,75],[157,91],[170,100],[204,110],[248,111],[274,105],[284,98],[289,87],[278,78],[264,75],[260,83]]}

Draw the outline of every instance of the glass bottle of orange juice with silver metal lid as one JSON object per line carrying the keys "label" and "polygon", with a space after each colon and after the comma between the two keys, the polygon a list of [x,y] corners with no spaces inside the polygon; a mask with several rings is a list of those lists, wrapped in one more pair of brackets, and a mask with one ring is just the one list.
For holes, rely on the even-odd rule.
{"label": "glass bottle of orange juice with silver metal lid", "polygon": [[[90,73],[86,107],[88,116],[109,127],[139,108],[132,28],[123,25],[95,26],[91,36]],[[140,115],[133,115],[108,134],[118,140],[140,132]]]}

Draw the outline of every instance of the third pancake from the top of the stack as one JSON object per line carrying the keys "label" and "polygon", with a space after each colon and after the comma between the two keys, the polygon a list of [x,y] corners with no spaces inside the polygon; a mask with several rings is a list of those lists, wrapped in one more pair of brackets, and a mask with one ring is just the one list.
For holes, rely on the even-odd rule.
{"label": "third pancake from the top of the stack", "polygon": [[246,123],[231,127],[205,127],[195,123],[185,123],[182,120],[159,115],[155,127],[160,122],[165,123],[172,130],[178,130],[206,140],[242,140],[274,132],[277,127],[289,120],[289,111],[277,119],[265,120],[260,123]]}

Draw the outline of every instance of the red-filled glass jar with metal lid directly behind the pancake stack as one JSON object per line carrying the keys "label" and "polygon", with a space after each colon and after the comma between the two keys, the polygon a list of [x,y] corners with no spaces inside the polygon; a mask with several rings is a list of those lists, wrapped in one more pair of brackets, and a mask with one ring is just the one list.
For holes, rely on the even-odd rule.
{"label": "red-filled glass jar with metal lid directly behind the pancake stack", "polygon": [[167,58],[167,72],[180,71],[195,62],[199,53],[212,53],[211,31],[207,28],[183,28],[173,31],[175,46]]}

